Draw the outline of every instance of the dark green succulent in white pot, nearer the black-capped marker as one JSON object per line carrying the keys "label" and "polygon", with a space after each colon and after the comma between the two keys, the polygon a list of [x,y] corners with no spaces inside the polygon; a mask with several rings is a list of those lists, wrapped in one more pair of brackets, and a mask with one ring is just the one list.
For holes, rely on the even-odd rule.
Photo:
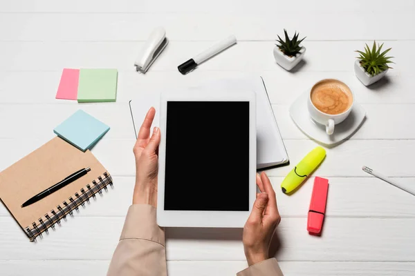
{"label": "dark green succulent in white pot, nearer the black-capped marker", "polygon": [[274,47],[275,61],[285,70],[293,69],[299,61],[304,57],[306,48],[302,46],[302,41],[306,39],[298,39],[299,33],[294,32],[294,37],[288,37],[287,31],[284,29],[285,41],[278,35],[278,44]]}

